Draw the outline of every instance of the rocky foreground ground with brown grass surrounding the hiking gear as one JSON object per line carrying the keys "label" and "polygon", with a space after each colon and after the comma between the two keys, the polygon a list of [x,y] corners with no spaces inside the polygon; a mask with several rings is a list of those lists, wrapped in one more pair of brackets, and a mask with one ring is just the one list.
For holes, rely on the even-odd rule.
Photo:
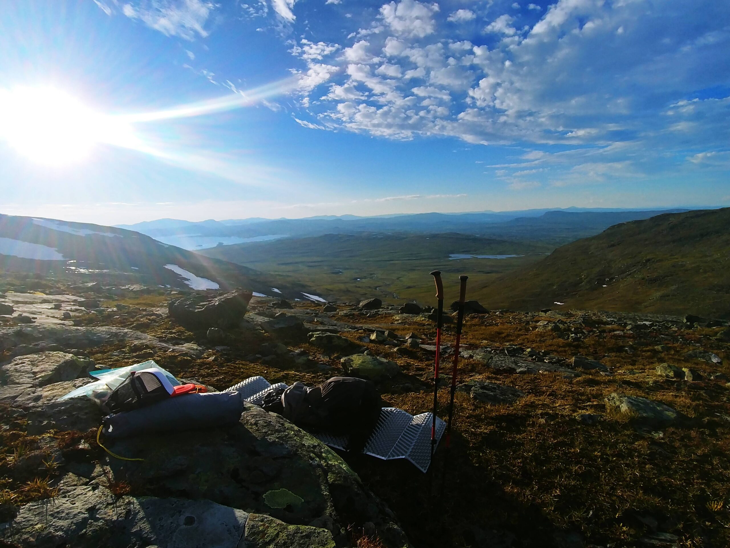
{"label": "rocky foreground ground with brown grass surrounding the hiking gear", "polygon": [[[317,384],[352,374],[373,378],[390,405],[431,408],[429,309],[254,298],[240,326],[209,329],[169,316],[168,302],[182,296],[4,281],[7,545],[730,544],[727,322],[475,303],[453,446],[439,447],[429,474],[337,454],[254,406],[236,427],[110,444],[145,459],[117,460],[96,444],[95,404],[54,401],[92,368],[155,359],[215,389],[253,375]],[[453,330],[450,321],[445,343]],[[450,348],[443,354],[450,373]],[[445,418],[446,384],[439,400]]]}

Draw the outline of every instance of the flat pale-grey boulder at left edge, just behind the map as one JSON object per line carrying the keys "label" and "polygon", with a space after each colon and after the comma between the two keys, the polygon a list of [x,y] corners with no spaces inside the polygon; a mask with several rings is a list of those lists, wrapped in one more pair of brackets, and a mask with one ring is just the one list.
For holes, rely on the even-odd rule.
{"label": "flat pale-grey boulder at left edge, just behind the map", "polygon": [[44,387],[62,381],[88,376],[94,362],[65,352],[40,352],[18,356],[0,365],[0,384],[27,384]]}

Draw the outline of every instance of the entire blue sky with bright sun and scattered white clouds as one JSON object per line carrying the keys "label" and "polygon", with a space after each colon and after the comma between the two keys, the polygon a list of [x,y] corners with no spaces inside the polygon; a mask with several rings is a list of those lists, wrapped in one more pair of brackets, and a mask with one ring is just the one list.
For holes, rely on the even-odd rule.
{"label": "entire blue sky with bright sun and scattered white clouds", "polygon": [[730,205],[730,3],[5,0],[0,213]]}

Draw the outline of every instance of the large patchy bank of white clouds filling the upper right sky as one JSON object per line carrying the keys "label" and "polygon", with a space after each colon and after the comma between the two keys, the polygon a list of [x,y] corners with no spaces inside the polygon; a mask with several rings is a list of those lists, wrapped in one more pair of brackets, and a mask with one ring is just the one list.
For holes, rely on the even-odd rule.
{"label": "large patchy bank of white clouds filling the upper right sky", "polygon": [[[672,155],[717,171],[718,156],[709,153],[730,142],[730,98],[690,97],[726,85],[730,30],[720,22],[730,7],[671,3],[663,10],[647,9],[648,0],[527,4],[465,40],[448,24],[464,8],[391,1],[356,26],[345,20],[342,46],[304,33],[310,42],[293,49],[307,64],[300,91],[328,85],[311,105],[325,126],[393,139],[533,143],[536,150],[499,167],[507,183],[532,169],[545,169],[531,177],[542,186],[626,180],[651,162],[669,165]],[[552,144],[581,152],[537,150]],[[622,164],[629,151],[636,157]]]}

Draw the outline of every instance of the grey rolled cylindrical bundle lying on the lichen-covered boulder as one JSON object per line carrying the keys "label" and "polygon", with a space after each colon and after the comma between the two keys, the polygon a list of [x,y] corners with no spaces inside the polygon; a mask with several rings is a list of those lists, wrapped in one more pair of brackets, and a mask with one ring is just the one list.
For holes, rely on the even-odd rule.
{"label": "grey rolled cylindrical bundle lying on the lichen-covered boulder", "polygon": [[243,400],[238,392],[186,394],[107,416],[103,432],[108,438],[128,438],[234,425],[241,419],[242,412]]}

